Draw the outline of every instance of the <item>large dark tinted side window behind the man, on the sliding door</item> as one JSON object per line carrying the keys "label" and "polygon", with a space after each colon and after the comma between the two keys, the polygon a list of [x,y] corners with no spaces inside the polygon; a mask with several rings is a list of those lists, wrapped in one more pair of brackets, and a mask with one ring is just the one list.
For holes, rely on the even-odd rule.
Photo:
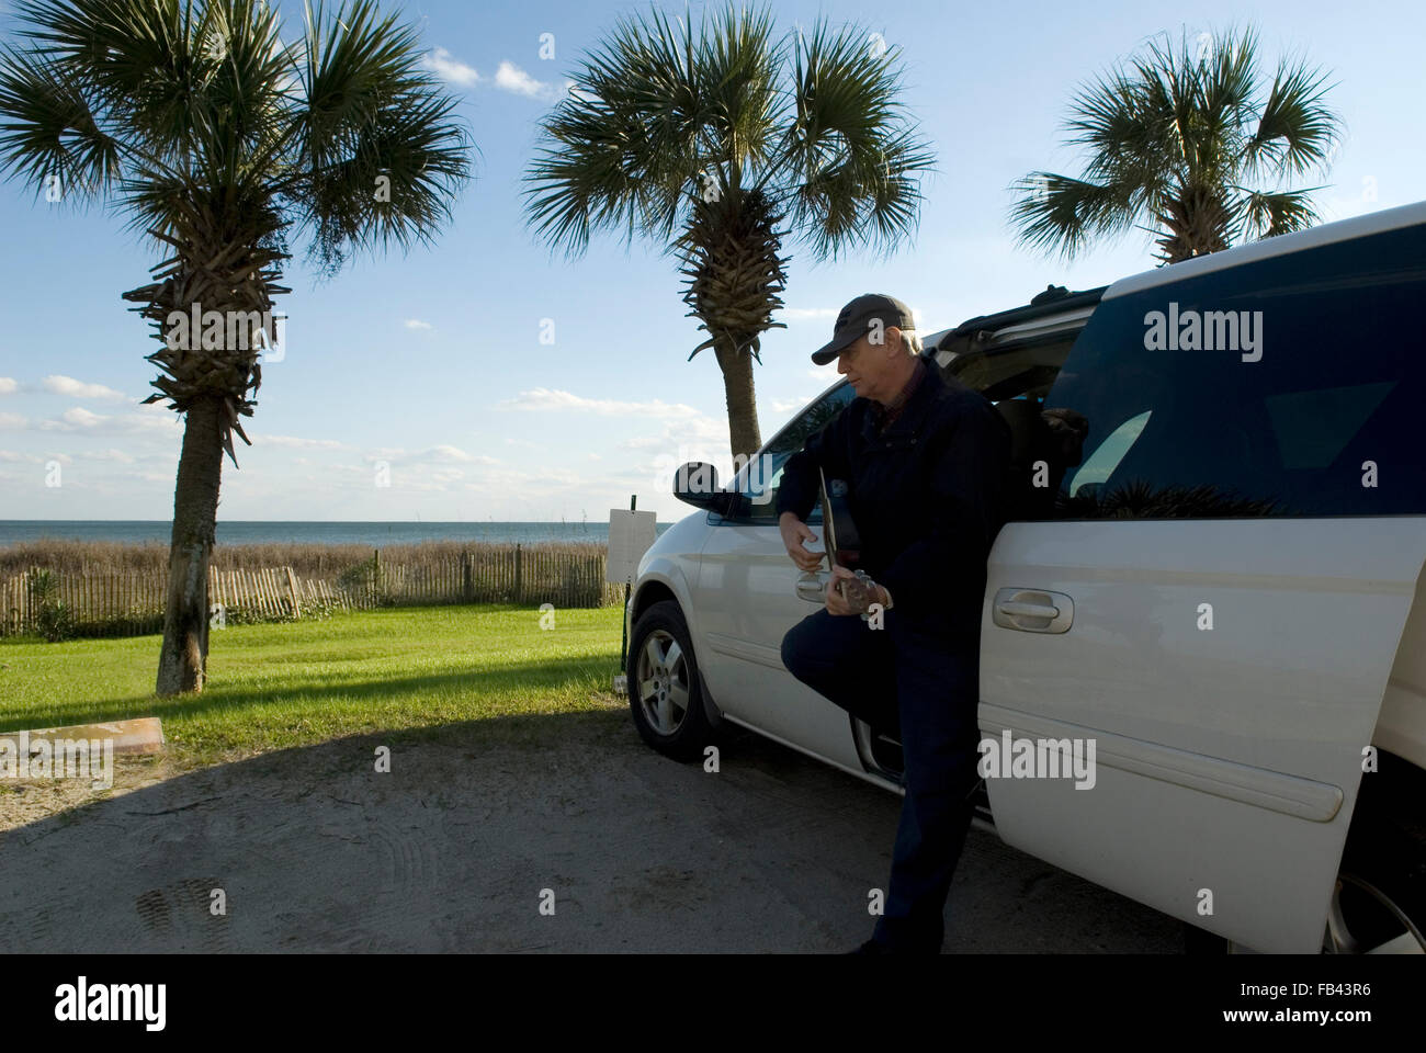
{"label": "large dark tinted side window behind the man, on the sliding door", "polygon": [[1088,419],[1055,515],[1426,514],[1426,227],[1102,302],[1045,400]]}

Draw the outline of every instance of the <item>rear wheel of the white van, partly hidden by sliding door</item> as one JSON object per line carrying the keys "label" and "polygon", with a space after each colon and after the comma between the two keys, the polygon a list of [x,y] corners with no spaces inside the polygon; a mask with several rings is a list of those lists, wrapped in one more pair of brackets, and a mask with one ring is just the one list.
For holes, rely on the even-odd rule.
{"label": "rear wheel of the white van, partly hidden by sliding door", "polygon": [[[1328,907],[1323,955],[1426,953],[1426,772],[1390,753],[1362,776]],[[1232,940],[1185,923],[1191,955],[1232,955]]]}

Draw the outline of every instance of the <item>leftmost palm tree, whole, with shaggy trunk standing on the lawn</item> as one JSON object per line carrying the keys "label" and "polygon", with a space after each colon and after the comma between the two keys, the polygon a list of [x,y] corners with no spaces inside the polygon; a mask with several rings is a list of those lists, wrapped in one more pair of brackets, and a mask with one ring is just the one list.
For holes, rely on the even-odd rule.
{"label": "leftmost palm tree, whole, with shaggy trunk standing on the lawn", "polygon": [[294,44],[262,0],[17,9],[29,44],[0,50],[0,168],[51,200],[108,201],[165,255],[124,298],[163,344],[144,401],[185,415],[157,691],[200,691],[222,452],[237,467],[232,432],[248,442],[238,418],[277,340],[288,237],[308,234],[327,274],[356,250],[429,243],[469,177],[469,136],[414,30],[368,0],[308,7]]}

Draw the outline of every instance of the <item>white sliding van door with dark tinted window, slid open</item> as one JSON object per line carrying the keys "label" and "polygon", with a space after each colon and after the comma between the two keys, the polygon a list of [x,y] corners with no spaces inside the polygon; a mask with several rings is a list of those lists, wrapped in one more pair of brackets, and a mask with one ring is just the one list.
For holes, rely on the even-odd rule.
{"label": "white sliding van door with dark tinted window, slid open", "polygon": [[981,628],[983,738],[1092,743],[1092,778],[987,779],[1007,843],[1322,947],[1426,562],[1423,261],[1413,205],[1105,294],[1045,400],[1084,458],[1001,531]]}

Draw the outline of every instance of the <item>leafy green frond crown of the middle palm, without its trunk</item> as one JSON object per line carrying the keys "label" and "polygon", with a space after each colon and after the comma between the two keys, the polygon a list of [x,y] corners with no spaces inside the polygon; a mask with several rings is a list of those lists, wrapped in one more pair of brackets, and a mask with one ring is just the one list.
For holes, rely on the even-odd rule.
{"label": "leafy green frond crown of the middle palm, without its trunk", "polygon": [[542,123],[533,233],[572,255],[602,230],[677,251],[700,195],[766,193],[819,257],[896,244],[934,157],[900,100],[898,54],[867,36],[820,21],[789,40],[769,10],[732,4],[697,24],[622,20]]}

